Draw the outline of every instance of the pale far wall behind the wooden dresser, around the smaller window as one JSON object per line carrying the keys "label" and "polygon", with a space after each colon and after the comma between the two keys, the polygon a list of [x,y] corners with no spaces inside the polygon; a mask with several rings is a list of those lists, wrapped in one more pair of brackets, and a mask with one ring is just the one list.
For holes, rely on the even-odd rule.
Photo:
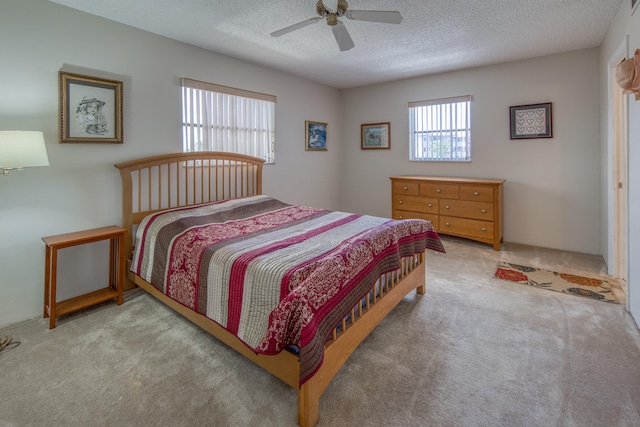
{"label": "pale far wall behind the wooden dresser, around the smaller window", "polygon": [[[343,91],[342,207],[391,214],[389,176],[506,179],[504,239],[600,253],[598,51],[426,76]],[[465,164],[409,162],[407,102],[472,95]],[[511,141],[509,106],[553,103],[553,138]],[[362,123],[391,122],[391,150],[360,150]]]}

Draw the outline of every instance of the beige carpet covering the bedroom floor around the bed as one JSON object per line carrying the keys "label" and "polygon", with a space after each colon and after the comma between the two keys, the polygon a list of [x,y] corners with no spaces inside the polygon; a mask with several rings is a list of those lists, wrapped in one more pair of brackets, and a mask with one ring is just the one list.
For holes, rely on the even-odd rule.
{"label": "beige carpet covering the bedroom floor around the bed", "polygon": [[[601,258],[443,238],[411,294],[320,400],[319,426],[640,425],[624,304],[493,277],[498,261],[602,274]],[[624,298],[624,296],[622,296]],[[0,330],[0,426],[295,426],[295,390],[141,291]]]}

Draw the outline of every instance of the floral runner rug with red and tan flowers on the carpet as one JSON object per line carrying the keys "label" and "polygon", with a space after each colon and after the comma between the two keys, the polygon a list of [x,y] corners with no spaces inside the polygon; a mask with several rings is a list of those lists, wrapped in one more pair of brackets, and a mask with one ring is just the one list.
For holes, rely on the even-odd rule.
{"label": "floral runner rug with red and tan flowers on the carpet", "polygon": [[509,262],[498,262],[495,277],[536,288],[619,304],[611,290],[611,281],[615,280],[613,278],[576,276]]}

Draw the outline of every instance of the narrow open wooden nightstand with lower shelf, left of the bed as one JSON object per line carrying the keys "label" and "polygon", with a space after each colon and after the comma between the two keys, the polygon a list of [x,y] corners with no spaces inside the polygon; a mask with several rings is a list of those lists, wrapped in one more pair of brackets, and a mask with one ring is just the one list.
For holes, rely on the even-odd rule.
{"label": "narrow open wooden nightstand with lower shelf, left of the bed", "polygon": [[[49,329],[56,327],[56,317],[117,298],[122,304],[124,277],[124,233],[127,230],[112,225],[75,233],[43,237],[46,245],[44,270],[44,317],[49,318]],[[104,289],[56,302],[58,249],[109,240],[109,286]]]}

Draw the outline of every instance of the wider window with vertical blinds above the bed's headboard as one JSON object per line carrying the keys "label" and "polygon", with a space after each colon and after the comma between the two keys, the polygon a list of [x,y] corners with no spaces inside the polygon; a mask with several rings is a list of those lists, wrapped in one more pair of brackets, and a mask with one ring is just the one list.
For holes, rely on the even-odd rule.
{"label": "wider window with vertical blinds above the bed's headboard", "polygon": [[182,79],[182,151],[226,151],[275,162],[276,97]]}

